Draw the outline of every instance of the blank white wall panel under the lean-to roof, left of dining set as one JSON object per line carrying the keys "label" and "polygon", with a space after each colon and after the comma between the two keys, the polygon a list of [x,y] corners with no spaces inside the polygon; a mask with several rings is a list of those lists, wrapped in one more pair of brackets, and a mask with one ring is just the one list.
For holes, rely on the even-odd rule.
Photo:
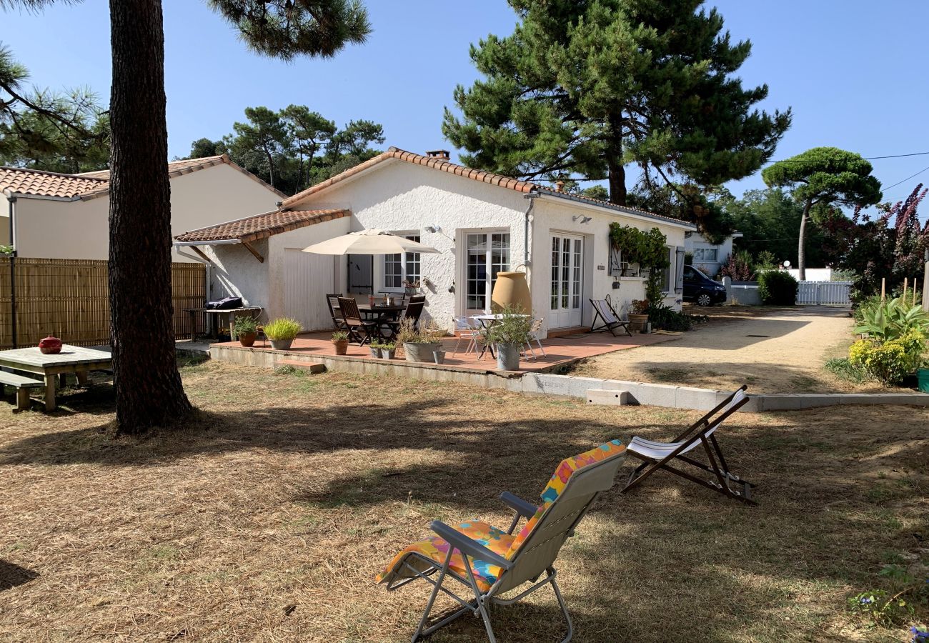
{"label": "blank white wall panel under the lean-to roof, left of dining set", "polygon": [[332,256],[312,255],[295,248],[284,249],[284,314],[303,325],[305,331],[333,327],[326,294],[334,288]]}

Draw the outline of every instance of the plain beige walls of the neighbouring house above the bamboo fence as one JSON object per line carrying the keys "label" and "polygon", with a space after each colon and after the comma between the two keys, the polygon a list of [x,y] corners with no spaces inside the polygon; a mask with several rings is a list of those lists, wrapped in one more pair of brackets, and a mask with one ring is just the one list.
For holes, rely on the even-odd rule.
{"label": "plain beige walls of the neighbouring house above the bamboo fence", "polygon": [[[171,234],[268,212],[279,201],[277,192],[228,164],[206,167],[171,179]],[[89,201],[18,197],[15,208],[19,256],[108,258],[109,196]],[[172,256],[172,261],[190,260]]]}

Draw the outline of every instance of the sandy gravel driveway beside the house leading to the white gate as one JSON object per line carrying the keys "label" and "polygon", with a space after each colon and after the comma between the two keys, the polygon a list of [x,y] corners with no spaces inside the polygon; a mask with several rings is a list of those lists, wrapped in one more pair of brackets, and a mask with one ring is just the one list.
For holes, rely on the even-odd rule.
{"label": "sandy gravel driveway beside the house leading to the white gate", "polygon": [[876,391],[823,369],[831,357],[847,355],[852,340],[848,308],[718,307],[701,324],[673,342],[621,350],[592,358],[575,374],[730,389],[748,384],[754,393]]}

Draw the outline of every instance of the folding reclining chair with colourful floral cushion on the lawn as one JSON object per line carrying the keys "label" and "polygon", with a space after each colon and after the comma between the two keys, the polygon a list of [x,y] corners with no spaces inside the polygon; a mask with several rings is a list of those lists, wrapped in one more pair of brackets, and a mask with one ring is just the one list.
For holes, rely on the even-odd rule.
{"label": "folding reclining chair with colourful floral cushion on the lawn", "polygon": [[[509,492],[501,494],[505,505],[516,511],[507,531],[486,522],[464,522],[450,527],[435,520],[432,531],[436,536],[403,549],[377,577],[392,591],[418,578],[432,584],[432,593],[425,604],[423,618],[412,636],[415,641],[467,613],[480,615],[491,643],[497,640],[491,628],[491,605],[512,605],[545,584],[552,584],[561,613],[568,623],[567,643],[574,628],[568,608],[556,583],[553,567],[561,545],[574,534],[584,514],[601,492],[613,485],[613,478],[625,457],[625,447],[613,440],[580,455],[562,460],[542,492],[542,505],[536,506]],[[520,518],[528,522],[522,531],[514,531]],[[438,572],[438,575],[437,575]],[[539,580],[543,577],[542,580]],[[453,579],[469,588],[474,598],[459,597],[445,584]],[[499,596],[524,583],[525,591],[512,598]],[[429,611],[438,592],[454,598],[462,605],[438,623],[426,626]]]}

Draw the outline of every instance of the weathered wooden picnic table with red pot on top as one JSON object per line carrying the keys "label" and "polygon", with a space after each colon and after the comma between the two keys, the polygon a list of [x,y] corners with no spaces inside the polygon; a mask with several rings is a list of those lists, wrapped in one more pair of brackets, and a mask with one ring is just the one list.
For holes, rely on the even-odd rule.
{"label": "weathered wooden picnic table with red pot on top", "polygon": [[42,375],[46,381],[46,411],[54,411],[59,376],[61,384],[67,374],[75,374],[77,381],[85,384],[90,371],[111,371],[113,362],[109,350],[65,344],[55,355],[45,355],[38,347],[0,350],[0,366]]}

